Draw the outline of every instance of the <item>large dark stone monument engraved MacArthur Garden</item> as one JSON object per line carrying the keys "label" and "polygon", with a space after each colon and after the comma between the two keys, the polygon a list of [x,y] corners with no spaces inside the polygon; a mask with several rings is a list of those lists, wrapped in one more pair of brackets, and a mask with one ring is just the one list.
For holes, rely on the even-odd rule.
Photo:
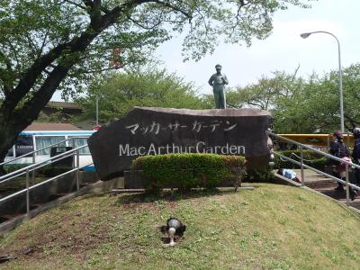
{"label": "large dark stone monument engraved MacArthur Garden", "polygon": [[272,117],[257,109],[185,110],[135,107],[95,132],[88,145],[102,180],[123,174],[143,155],[242,155],[248,166],[269,162],[266,130]]}

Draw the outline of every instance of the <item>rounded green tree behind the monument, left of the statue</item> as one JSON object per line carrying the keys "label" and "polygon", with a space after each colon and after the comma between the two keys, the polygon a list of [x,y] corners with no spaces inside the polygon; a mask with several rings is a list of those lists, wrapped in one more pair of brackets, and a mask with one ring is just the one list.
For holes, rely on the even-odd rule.
{"label": "rounded green tree behind the monument, left of the statue", "polygon": [[96,79],[84,97],[76,99],[83,109],[81,118],[95,118],[95,100],[99,98],[99,121],[107,122],[126,114],[134,106],[204,109],[193,84],[185,83],[166,70],[127,70]]}

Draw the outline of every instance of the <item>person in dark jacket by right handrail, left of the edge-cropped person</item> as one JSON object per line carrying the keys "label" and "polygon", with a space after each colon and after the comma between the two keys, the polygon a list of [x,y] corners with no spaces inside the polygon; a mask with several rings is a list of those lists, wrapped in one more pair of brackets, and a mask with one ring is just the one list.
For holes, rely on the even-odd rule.
{"label": "person in dark jacket by right handrail, left of the edge-cropped person", "polygon": [[[329,153],[332,156],[339,157],[341,159],[347,160],[351,162],[350,154],[347,149],[347,146],[343,140],[343,133],[340,130],[337,130],[333,133],[333,141],[330,143]],[[345,181],[346,179],[346,163],[342,163],[334,160],[334,175]],[[344,191],[344,184],[338,182],[338,187],[336,188],[338,191]],[[350,187],[349,188],[351,200],[355,199],[356,192]]]}

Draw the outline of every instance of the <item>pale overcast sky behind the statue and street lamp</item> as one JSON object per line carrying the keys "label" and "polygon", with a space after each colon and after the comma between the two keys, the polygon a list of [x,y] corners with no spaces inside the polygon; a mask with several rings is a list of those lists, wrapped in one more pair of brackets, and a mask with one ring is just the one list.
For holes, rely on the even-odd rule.
{"label": "pale overcast sky behind the statue and street lamp", "polygon": [[[257,82],[262,75],[271,76],[274,71],[292,73],[299,65],[299,76],[312,72],[324,74],[338,69],[338,45],[336,40],[323,33],[302,39],[306,31],[330,31],[338,37],[341,45],[342,67],[360,61],[360,0],[319,0],[311,9],[290,7],[275,14],[274,31],[266,40],[254,40],[252,46],[221,45],[214,54],[198,62],[183,62],[182,40],[167,41],[157,49],[165,67],[193,81],[200,94],[211,94],[207,81],[215,72],[217,63],[229,78],[229,86]],[[55,94],[53,100],[58,100]]]}

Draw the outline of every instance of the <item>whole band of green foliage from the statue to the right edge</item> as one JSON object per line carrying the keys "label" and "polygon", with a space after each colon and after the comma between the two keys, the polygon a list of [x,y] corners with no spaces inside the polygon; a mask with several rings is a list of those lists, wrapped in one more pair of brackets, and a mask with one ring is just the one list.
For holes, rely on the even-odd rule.
{"label": "whole band of green foliage from the statue to the right edge", "polygon": [[[345,126],[360,125],[360,64],[343,69]],[[227,94],[229,107],[254,107],[273,112],[276,133],[327,133],[340,123],[338,70],[307,78],[275,72],[256,84],[240,87]]]}

